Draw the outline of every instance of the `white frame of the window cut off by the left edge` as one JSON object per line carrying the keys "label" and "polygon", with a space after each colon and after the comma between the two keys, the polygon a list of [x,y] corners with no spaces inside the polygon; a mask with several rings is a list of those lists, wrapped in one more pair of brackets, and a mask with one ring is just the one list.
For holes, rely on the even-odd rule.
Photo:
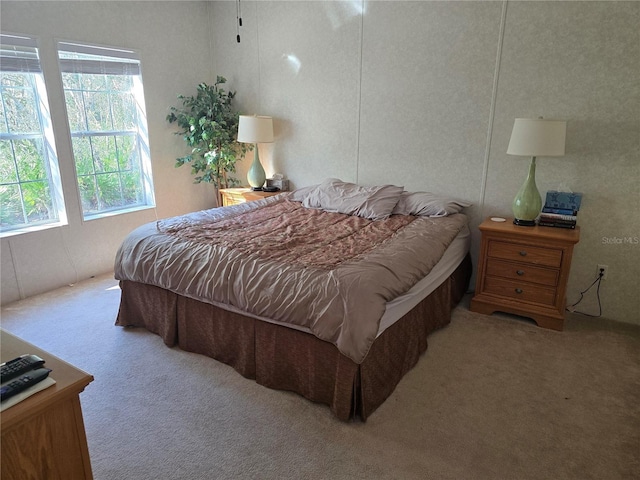
{"label": "white frame of the window cut off by the left edge", "polygon": [[[47,220],[34,222],[26,221],[25,223],[16,224],[14,226],[0,226],[0,237],[6,237],[19,233],[66,225],[68,222],[66,210],[64,208],[64,197],[62,193],[58,156],[56,153],[53,128],[51,125],[49,100],[42,74],[42,67],[40,65],[37,40],[25,35],[3,33],[0,34],[0,45],[2,45],[2,48],[0,49],[0,71],[6,73],[20,73],[29,76],[29,81],[32,85],[36,101],[37,120],[40,126],[40,132],[38,133],[11,133],[7,131],[0,133],[0,138],[2,140],[10,141],[33,138],[42,139],[44,168],[49,185],[52,211],[52,218]],[[4,102],[4,97],[2,101]],[[14,163],[16,162],[15,152],[13,153],[13,161]],[[29,182],[29,180],[22,181],[20,178],[17,180],[17,182],[9,182],[5,185],[18,185],[22,199],[23,217],[27,220],[24,199],[22,197],[22,184]]]}

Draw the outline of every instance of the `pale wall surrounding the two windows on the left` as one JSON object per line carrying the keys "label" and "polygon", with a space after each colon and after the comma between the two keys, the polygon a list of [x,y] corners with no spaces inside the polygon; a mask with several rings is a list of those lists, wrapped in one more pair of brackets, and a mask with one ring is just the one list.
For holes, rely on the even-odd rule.
{"label": "pale wall surrounding the two windows on the left", "polygon": [[[214,206],[208,185],[193,185],[187,167],[175,169],[184,145],[165,121],[176,95],[211,81],[207,2],[2,1],[3,32],[39,40],[69,225],[1,240],[2,303],[28,297],[113,268],[115,252],[135,227]],[[75,184],[55,41],[76,40],[139,52],[148,115],[156,209],[84,222]],[[52,74],[53,73],[53,74]],[[48,75],[47,75],[48,74]]]}

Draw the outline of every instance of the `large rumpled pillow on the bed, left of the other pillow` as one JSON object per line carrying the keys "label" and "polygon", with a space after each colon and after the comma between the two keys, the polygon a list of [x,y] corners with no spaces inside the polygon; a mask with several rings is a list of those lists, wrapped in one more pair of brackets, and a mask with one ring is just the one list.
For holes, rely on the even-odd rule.
{"label": "large rumpled pillow on the bed, left of the other pillow", "polygon": [[302,205],[370,220],[383,220],[391,215],[403,191],[403,187],[395,185],[361,187],[329,178],[311,190]]}

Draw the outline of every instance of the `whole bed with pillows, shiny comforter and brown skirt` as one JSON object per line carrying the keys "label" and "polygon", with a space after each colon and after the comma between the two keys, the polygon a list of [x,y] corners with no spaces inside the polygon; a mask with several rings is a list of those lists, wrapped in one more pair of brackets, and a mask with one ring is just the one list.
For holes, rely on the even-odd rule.
{"label": "whole bed with pillows, shiny comforter and brown skirt", "polygon": [[366,421],[468,287],[466,206],[328,179],[143,225],[116,256],[116,325]]}

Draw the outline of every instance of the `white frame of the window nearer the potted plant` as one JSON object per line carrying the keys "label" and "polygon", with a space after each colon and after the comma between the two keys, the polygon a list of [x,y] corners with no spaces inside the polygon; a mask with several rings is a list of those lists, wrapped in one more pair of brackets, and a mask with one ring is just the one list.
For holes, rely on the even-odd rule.
{"label": "white frame of the window nearer the potted plant", "polygon": [[[69,131],[71,135],[71,145],[73,150],[74,138],[89,138],[91,139],[100,136],[133,136],[135,138],[135,144],[138,151],[139,158],[139,172],[140,172],[140,195],[141,201],[135,204],[123,204],[110,208],[100,208],[100,199],[98,198],[98,210],[85,211],[85,206],[82,202],[82,194],[80,192],[80,180],[77,170],[77,163],[74,160],[74,169],[76,172],[76,180],[78,182],[78,197],[80,199],[82,214],[84,220],[92,220],[96,218],[102,218],[105,216],[118,215],[130,211],[154,208],[155,198],[153,190],[152,172],[151,172],[151,158],[149,150],[148,139],[148,127],[147,127],[147,115],[144,103],[144,92],[142,82],[142,72],[140,60],[137,53],[133,50],[126,50],[122,48],[112,48],[97,45],[80,44],[67,41],[57,42],[58,62],[60,65],[60,74],[65,92],[68,91],[64,87],[64,74],[65,73],[77,73],[77,74],[98,74],[98,75],[128,75],[132,77],[133,89],[132,94],[135,101],[136,108],[136,121],[135,129],[132,130],[90,130],[87,125],[87,129],[84,131],[72,131],[71,123],[68,121]],[[75,57],[75,58],[70,58]],[[85,92],[88,90],[80,89],[83,92],[83,98]],[[84,106],[84,113],[86,117],[87,108]],[[110,112],[111,115],[111,106]],[[67,112],[67,118],[69,118]],[[74,152],[75,156],[75,152]],[[93,156],[93,153],[92,153]],[[95,157],[94,157],[95,162]],[[110,173],[117,173],[119,178],[122,171],[118,167],[117,171]],[[96,172],[95,164],[93,174],[83,175],[86,177],[92,176],[94,183],[97,185],[98,175],[102,173]],[[96,188],[96,192],[98,189]]]}

